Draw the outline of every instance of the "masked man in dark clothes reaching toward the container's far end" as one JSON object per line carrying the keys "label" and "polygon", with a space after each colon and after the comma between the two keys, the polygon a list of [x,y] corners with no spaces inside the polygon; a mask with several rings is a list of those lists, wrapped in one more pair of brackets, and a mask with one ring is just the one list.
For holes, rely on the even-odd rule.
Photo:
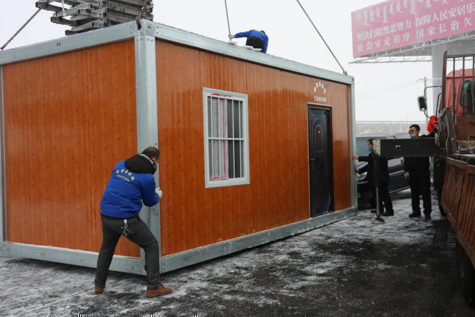
{"label": "masked man in dark clothes reaching toward the container's far end", "polygon": [[[357,159],[358,162],[368,162],[367,165],[362,167],[360,170],[356,170],[358,174],[368,172],[368,183],[371,186],[371,192],[373,197],[376,197],[376,190],[374,189],[374,157],[373,157],[373,140],[368,140],[368,156],[358,156],[353,155],[353,159]],[[394,216],[393,203],[391,201],[391,195],[389,195],[389,169],[387,167],[387,158],[382,157],[379,159],[379,204],[382,206],[382,203],[385,203],[385,212],[382,212],[381,216]],[[371,211],[372,212],[372,211]]]}

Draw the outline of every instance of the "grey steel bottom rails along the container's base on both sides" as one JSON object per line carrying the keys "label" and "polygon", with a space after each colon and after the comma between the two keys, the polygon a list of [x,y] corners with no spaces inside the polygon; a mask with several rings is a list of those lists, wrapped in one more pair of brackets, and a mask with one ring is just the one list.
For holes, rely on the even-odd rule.
{"label": "grey steel bottom rails along the container's base on both sides", "polygon": [[[340,210],[339,212],[331,212],[315,218],[309,218],[304,221],[299,221],[298,223],[291,223],[282,227],[264,230],[262,232],[250,234],[249,236],[242,236],[240,238],[234,238],[213,245],[198,247],[185,252],[164,256],[160,260],[160,272],[171,272],[175,269],[202,263],[206,260],[212,260],[213,258],[218,258],[220,256],[226,256],[264,243],[277,241],[287,236],[302,234],[309,230],[329,225],[355,215],[356,208],[352,207]],[[35,260],[47,260],[68,265],[80,265],[82,267],[95,268],[97,263],[96,252],[11,242],[2,242],[1,249],[1,254],[21,256]],[[142,265],[142,259],[140,258],[115,255],[110,265],[110,270],[145,275],[146,273],[144,272]]]}

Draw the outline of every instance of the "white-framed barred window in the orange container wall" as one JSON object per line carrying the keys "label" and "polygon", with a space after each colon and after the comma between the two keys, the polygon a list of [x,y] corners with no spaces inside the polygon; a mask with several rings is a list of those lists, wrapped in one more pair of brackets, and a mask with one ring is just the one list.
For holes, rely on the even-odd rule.
{"label": "white-framed barred window in the orange container wall", "polygon": [[205,187],[249,184],[247,95],[203,88]]}

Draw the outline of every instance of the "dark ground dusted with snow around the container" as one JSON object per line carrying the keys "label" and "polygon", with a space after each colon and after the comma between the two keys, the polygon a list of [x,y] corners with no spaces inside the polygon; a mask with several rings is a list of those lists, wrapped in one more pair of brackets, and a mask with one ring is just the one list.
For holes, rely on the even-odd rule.
{"label": "dark ground dusted with snow around the container", "polygon": [[[456,283],[454,232],[433,212],[372,224],[358,216],[162,276],[173,294],[146,298],[144,276],[0,256],[1,316],[475,316]],[[434,199],[434,206],[435,199]]]}

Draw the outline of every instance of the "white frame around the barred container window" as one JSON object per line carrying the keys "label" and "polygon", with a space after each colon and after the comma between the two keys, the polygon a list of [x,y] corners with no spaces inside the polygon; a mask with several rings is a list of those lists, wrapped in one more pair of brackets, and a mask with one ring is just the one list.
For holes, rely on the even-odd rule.
{"label": "white frame around the barred container window", "polygon": [[[230,99],[242,102],[242,138],[244,145],[242,146],[242,170],[243,176],[239,178],[229,179],[209,179],[209,140],[211,136],[208,135],[208,97],[217,96],[220,99]],[[203,88],[203,127],[204,127],[204,187],[224,187],[233,185],[246,185],[250,183],[249,176],[249,117],[247,112],[247,94],[239,94],[236,92],[226,92],[224,90],[215,90],[211,88]],[[232,138],[229,138],[232,139]]]}

